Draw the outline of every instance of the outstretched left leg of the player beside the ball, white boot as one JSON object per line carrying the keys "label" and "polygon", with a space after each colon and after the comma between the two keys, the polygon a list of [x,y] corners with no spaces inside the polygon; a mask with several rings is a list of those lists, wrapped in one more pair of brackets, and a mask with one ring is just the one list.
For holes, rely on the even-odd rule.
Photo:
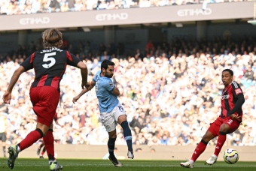
{"label": "outstretched left leg of the player beside the ball, white boot", "polygon": [[192,157],[190,158],[190,160],[184,163],[180,163],[181,166],[184,166],[187,168],[194,167],[194,162],[197,160],[198,157],[200,157],[200,154],[202,154],[203,151],[205,151],[208,142],[218,135],[218,129],[220,127],[219,126],[220,124],[221,122],[218,119],[216,119],[215,122],[211,124],[209,129],[206,131],[206,134],[203,136],[200,143],[195,148],[194,153],[192,154]]}

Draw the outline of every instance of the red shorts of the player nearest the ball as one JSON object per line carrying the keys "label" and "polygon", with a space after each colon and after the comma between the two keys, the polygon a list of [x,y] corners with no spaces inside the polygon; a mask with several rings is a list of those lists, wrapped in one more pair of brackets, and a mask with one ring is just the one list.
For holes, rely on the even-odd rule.
{"label": "red shorts of the player nearest the ball", "polygon": [[218,136],[221,124],[227,124],[228,126],[230,126],[229,133],[233,133],[233,131],[237,130],[240,123],[241,121],[232,120],[230,117],[227,117],[227,118],[218,117],[214,122],[210,124],[211,126],[208,128],[208,131],[210,131],[214,136]]}

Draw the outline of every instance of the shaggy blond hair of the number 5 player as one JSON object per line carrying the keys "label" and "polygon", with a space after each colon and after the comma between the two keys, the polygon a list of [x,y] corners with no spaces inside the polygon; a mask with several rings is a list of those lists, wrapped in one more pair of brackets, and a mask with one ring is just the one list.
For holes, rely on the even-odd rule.
{"label": "shaggy blond hair of the number 5 player", "polygon": [[42,33],[44,49],[62,46],[62,33],[56,28],[50,28]]}

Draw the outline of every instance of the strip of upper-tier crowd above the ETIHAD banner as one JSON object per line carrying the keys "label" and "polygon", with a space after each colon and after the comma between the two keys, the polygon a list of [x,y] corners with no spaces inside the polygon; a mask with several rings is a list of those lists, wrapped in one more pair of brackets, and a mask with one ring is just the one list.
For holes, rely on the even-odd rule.
{"label": "strip of upper-tier crowd above the ETIHAD banner", "polygon": [[53,13],[108,10],[130,7],[162,7],[244,0],[0,0],[0,14]]}

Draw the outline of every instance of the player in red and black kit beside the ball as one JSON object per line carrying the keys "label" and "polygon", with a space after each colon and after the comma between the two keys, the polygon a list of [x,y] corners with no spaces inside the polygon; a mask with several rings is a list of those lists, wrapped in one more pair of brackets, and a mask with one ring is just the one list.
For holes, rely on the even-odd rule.
{"label": "player in red and black kit beside the ball", "polygon": [[245,103],[245,98],[239,84],[233,81],[233,71],[230,69],[222,71],[221,80],[224,84],[224,90],[221,96],[221,115],[210,124],[206,134],[194,150],[191,159],[181,163],[181,166],[193,168],[194,162],[200,154],[205,151],[208,142],[215,138],[215,136],[218,136],[215,152],[208,160],[206,160],[207,164],[214,164],[226,141],[226,135],[228,133],[233,133],[242,122],[242,104]]}

